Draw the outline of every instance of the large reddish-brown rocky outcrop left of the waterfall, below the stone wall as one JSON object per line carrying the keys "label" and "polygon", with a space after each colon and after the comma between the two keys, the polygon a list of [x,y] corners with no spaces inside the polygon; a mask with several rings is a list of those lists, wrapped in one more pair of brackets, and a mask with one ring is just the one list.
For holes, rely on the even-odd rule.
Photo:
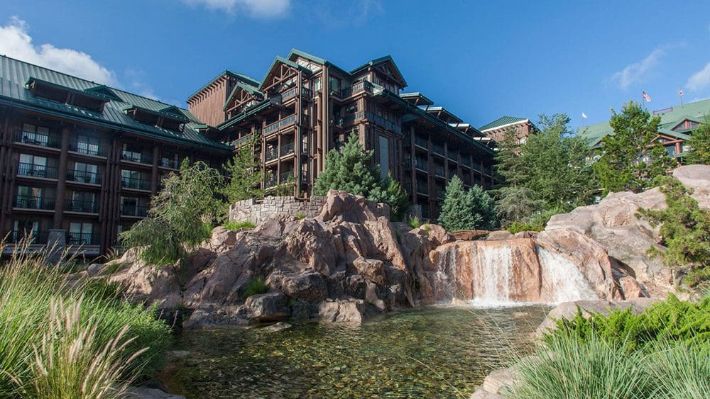
{"label": "large reddish-brown rocky outcrop left of the waterfall, below the stone wall", "polygon": [[[217,227],[187,262],[155,269],[131,249],[94,267],[136,300],[192,312],[183,327],[243,326],[317,319],[361,322],[393,309],[431,303],[429,253],[452,240],[439,226],[389,221],[386,205],[331,191],[315,218],[280,215],[253,229]],[[263,279],[268,292],[249,296]],[[422,288],[423,287],[423,288]]]}

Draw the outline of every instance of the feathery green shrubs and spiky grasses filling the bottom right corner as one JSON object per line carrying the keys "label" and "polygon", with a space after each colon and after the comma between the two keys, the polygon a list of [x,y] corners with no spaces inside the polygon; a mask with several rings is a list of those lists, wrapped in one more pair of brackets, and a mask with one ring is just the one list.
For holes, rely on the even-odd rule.
{"label": "feathery green shrubs and spiky grasses filling the bottom right corner", "polygon": [[518,364],[518,398],[709,398],[710,298],[557,322]]}

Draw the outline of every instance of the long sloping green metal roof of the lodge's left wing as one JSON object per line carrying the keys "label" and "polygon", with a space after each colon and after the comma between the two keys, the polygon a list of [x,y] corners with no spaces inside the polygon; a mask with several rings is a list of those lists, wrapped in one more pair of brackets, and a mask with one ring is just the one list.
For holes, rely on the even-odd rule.
{"label": "long sloping green metal roof of the lodge's left wing", "polygon": [[[57,101],[50,101],[35,97],[24,86],[28,79],[34,78],[43,82],[49,82],[55,86],[61,86],[67,90],[91,92],[92,94],[106,96],[108,102],[104,106],[104,112],[89,111],[77,106],[70,106]],[[103,92],[108,89],[110,93],[118,99],[110,98]],[[81,122],[106,128],[129,131],[146,137],[181,144],[190,144],[200,147],[212,147],[216,150],[228,150],[229,147],[219,142],[208,140],[195,130],[196,125],[202,124],[200,120],[184,108],[178,108],[168,103],[155,101],[143,96],[108,88],[107,86],[90,82],[85,79],[73,77],[52,69],[39,67],[28,62],[15,60],[14,58],[0,55],[0,103],[16,108],[25,108],[32,111],[47,113],[50,115],[70,118]],[[131,116],[126,115],[124,108],[134,106],[148,111],[168,114],[178,117],[175,112],[182,115],[187,120],[182,131],[173,131],[156,126],[146,125],[136,122]]]}

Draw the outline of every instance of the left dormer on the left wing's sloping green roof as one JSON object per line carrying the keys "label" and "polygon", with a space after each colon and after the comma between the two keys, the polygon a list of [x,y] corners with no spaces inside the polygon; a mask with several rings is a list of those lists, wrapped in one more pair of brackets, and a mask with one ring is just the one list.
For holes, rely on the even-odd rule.
{"label": "left dormer on the left wing's sloping green roof", "polygon": [[111,101],[109,96],[106,96],[98,91],[91,91],[91,89],[82,91],[34,77],[27,79],[25,87],[35,97],[99,113],[104,112],[104,104]]}

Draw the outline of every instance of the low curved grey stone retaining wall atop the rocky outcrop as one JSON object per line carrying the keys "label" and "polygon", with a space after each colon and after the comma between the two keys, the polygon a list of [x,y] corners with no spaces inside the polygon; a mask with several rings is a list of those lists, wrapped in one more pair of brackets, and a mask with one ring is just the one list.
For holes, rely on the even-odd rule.
{"label": "low curved grey stone retaining wall atop the rocky outcrop", "polygon": [[263,200],[248,199],[229,206],[229,220],[244,221],[258,225],[275,215],[295,216],[302,213],[306,218],[315,218],[325,203],[324,196],[312,196],[303,200],[293,196],[266,197]]}

